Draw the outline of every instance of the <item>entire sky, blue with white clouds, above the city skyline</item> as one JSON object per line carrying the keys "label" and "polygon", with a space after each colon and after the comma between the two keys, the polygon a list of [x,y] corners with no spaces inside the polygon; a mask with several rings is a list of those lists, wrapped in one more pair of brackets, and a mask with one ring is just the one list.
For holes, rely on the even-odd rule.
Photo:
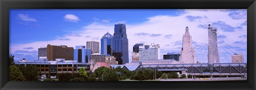
{"label": "entire sky, blue with white clouds, above the city skyline", "polygon": [[[218,29],[218,42],[226,51],[247,55],[246,16],[246,10],[10,10],[10,55],[15,61],[34,60],[37,49],[47,43],[75,47],[90,40],[100,42],[103,34],[114,33],[119,22],[126,24],[130,60],[132,46],[140,42],[160,44],[161,58],[167,52],[180,52],[186,26],[195,39],[197,57],[204,57],[199,50],[205,48],[197,46],[207,42],[201,39],[207,38],[207,24]],[[221,62],[231,61],[226,51],[219,50]]]}

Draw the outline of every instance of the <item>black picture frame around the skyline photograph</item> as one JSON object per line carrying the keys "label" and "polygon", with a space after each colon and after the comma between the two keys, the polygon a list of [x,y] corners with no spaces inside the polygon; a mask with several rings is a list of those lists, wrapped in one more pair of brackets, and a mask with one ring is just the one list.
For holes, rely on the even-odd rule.
{"label": "black picture frame around the skyline photograph", "polygon": [[[14,82],[8,80],[10,9],[247,9],[247,81],[221,82]],[[255,89],[255,0],[0,0],[1,89]]]}

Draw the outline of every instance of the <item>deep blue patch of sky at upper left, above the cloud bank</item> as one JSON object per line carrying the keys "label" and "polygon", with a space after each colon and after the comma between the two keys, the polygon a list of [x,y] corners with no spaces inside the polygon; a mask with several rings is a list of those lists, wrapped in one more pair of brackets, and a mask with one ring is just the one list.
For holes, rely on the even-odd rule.
{"label": "deep blue patch of sky at upper left, above the cloud bank", "polygon": [[[11,10],[10,38],[11,43],[54,40],[56,36],[79,30],[83,25],[89,25],[97,19],[106,19],[105,22],[111,20],[111,22],[126,21],[130,24],[136,24],[145,22],[150,16],[177,16],[181,13],[185,12],[182,10]],[[66,14],[76,15],[81,22],[65,22],[63,16]],[[19,19],[21,18],[20,15],[35,20]],[[37,37],[43,34],[47,34],[47,37]]]}

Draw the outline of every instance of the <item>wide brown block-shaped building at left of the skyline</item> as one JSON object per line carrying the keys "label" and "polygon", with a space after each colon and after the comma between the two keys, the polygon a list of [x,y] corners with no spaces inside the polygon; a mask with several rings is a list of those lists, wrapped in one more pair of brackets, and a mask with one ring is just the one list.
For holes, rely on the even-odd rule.
{"label": "wide brown block-shaped building at left of the skyline", "polygon": [[74,48],[67,46],[51,46],[47,45],[47,59],[55,61],[57,58],[65,60],[74,60]]}

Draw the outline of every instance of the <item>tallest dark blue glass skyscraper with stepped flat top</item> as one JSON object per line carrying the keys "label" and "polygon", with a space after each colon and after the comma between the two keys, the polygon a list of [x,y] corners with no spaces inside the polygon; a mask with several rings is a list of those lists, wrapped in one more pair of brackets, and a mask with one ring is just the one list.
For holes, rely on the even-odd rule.
{"label": "tallest dark blue glass skyscraper with stepped flat top", "polygon": [[116,57],[118,65],[129,63],[128,39],[125,24],[115,24],[113,56]]}

